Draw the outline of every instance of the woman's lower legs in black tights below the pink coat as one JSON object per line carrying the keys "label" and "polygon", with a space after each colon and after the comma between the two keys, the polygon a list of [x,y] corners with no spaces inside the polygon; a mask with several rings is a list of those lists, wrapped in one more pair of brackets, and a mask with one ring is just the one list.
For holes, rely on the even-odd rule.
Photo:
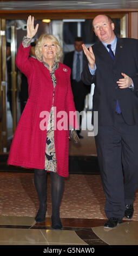
{"label": "woman's lower legs in black tights below the pink coat", "polygon": [[[52,228],[61,229],[62,224],[60,220],[60,204],[63,194],[64,178],[57,173],[51,172],[51,198],[52,198]],[[40,201],[40,208],[37,212],[35,220],[37,223],[45,220],[47,210],[47,196],[46,196],[46,177],[47,172],[44,169],[34,169],[34,183]]]}

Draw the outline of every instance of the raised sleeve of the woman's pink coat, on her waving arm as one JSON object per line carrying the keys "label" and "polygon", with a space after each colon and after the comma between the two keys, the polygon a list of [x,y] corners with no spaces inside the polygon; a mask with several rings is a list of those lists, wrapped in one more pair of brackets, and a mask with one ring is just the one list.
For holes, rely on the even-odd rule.
{"label": "raised sleeve of the woman's pink coat, on her waving arm", "polygon": [[32,72],[32,64],[29,60],[30,47],[23,47],[22,43],[19,45],[16,55],[15,63],[17,68],[25,75],[29,76]]}

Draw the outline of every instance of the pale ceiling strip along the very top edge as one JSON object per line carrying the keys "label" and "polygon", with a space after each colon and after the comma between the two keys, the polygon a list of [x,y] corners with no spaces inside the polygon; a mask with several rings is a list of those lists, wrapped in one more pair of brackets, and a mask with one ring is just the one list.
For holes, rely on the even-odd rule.
{"label": "pale ceiling strip along the very top edge", "polygon": [[0,0],[0,10],[59,10],[59,9],[138,9],[138,0]]}

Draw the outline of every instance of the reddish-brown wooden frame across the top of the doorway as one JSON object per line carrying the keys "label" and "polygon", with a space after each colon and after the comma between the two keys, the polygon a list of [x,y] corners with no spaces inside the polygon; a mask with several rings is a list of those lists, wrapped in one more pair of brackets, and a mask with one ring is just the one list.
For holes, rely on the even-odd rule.
{"label": "reddish-brown wooden frame across the top of the doorway", "polygon": [[2,11],[0,18],[8,20],[27,19],[31,14],[35,19],[93,19],[97,14],[108,14],[112,18],[126,15],[126,36],[138,39],[138,9],[83,9],[83,10],[21,10]]}

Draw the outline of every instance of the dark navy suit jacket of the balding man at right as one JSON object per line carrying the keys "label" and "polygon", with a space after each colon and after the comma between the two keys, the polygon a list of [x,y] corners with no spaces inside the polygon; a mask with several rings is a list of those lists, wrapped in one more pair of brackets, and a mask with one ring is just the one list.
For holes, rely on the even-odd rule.
{"label": "dark navy suit jacket of the balding man at right", "polygon": [[[102,42],[93,45],[96,72],[92,76],[88,60],[84,57],[82,81],[95,83],[93,111],[98,111],[98,125],[113,125],[116,100],[119,100],[124,120],[129,125],[138,125],[138,40],[117,39],[114,62]],[[120,89],[116,81],[123,78],[121,72],[132,78],[134,91]]]}

